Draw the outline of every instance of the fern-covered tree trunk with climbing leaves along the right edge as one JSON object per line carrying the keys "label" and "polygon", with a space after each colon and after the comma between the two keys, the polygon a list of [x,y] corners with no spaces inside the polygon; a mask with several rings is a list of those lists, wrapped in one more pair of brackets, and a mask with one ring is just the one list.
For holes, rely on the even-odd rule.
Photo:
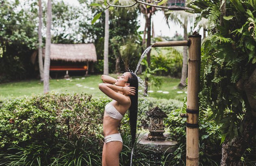
{"label": "fern-covered tree trunk with climbing leaves along the right edge", "polygon": [[220,7],[219,0],[191,2],[210,32],[202,47],[200,107],[221,125],[221,165],[242,165],[256,136],[256,3],[226,1],[226,17]]}

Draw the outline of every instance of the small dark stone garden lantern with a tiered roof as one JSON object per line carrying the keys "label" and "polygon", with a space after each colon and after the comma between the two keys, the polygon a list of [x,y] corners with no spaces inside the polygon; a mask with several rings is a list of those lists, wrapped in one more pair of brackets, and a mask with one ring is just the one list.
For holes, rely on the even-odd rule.
{"label": "small dark stone garden lantern with a tiered roof", "polygon": [[165,140],[163,133],[163,118],[167,115],[156,106],[154,109],[148,111],[146,114],[150,117],[150,134],[148,134],[148,140]]}

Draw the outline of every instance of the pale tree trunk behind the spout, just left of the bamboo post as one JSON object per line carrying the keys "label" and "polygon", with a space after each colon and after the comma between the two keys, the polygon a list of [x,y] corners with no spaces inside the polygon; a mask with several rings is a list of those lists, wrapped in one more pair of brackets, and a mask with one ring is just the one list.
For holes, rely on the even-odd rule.
{"label": "pale tree trunk behind the spout, just left of the bamboo post", "polygon": [[[184,40],[188,40],[188,33],[187,33],[187,21],[184,20],[183,24],[184,28]],[[182,70],[181,70],[181,79],[180,79],[180,87],[184,87],[186,84],[186,79],[188,75],[188,47],[183,47],[183,61],[182,61]]]}

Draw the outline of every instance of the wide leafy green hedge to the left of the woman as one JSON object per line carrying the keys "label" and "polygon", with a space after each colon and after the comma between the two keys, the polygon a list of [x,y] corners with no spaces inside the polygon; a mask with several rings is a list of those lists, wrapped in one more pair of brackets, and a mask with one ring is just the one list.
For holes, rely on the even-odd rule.
{"label": "wide leafy green hedge to the left of the woman", "polygon": [[0,163],[84,165],[91,160],[89,165],[99,165],[107,102],[87,94],[51,93],[2,103]]}

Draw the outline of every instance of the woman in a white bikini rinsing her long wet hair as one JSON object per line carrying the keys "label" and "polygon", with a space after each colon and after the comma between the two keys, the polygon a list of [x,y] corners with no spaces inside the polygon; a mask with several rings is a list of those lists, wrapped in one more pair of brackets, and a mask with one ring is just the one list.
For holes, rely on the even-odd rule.
{"label": "woman in a white bikini rinsing her long wet hair", "polygon": [[105,138],[102,151],[102,166],[119,166],[119,153],[123,147],[118,126],[126,111],[130,111],[132,146],[135,142],[138,112],[138,78],[132,72],[125,72],[117,79],[102,75],[99,89],[113,100],[106,104],[103,119]]}

